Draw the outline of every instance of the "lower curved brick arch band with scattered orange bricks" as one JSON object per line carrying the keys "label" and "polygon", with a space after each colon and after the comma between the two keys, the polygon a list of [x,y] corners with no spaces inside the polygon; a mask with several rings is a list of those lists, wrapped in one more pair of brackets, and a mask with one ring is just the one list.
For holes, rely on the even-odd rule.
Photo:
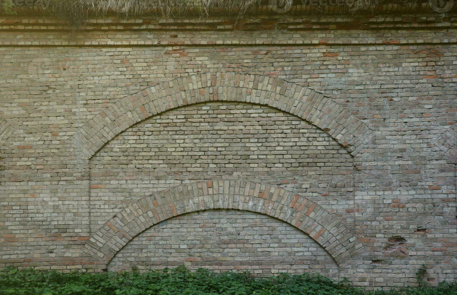
{"label": "lower curved brick arch band with scattered orange bricks", "polygon": [[84,251],[107,265],[149,227],[174,216],[209,209],[252,211],[285,221],[308,234],[339,265],[363,251],[357,237],[316,203],[275,186],[235,180],[182,184],[146,196],[106,221],[85,243]]}

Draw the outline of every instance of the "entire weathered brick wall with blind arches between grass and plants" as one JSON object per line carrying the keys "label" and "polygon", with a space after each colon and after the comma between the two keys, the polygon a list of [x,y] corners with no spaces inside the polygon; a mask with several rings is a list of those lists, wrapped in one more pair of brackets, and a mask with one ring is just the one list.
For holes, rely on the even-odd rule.
{"label": "entire weathered brick wall with blind arches between grass and plants", "polygon": [[0,17],[0,267],[456,279],[456,20]]}

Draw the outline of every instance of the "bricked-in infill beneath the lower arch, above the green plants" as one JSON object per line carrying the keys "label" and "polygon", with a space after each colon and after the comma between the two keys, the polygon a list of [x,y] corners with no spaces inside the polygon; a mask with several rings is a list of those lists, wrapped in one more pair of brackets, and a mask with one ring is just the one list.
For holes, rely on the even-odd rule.
{"label": "bricked-in infill beneath the lower arch, above the green plants", "polygon": [[107,270],[181,265],[191,270],[249,271],[255,277],[304,272],[333,279],[340,276],[329,253],[296,227],[271,216],[234,209],[195,211],[155,224],[128,242]]}

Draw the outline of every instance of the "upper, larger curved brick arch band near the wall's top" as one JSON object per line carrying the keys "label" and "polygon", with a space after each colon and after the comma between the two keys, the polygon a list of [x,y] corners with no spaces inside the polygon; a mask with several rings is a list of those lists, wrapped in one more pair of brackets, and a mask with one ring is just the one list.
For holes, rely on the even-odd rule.
{"label": "upper, larger curved brick arch band near the wall's top", "polygon": [[356,155],[374,133],[356,116],[313,90],[281,79],[254,74],[196,74],[157,84],[101,111],[73,137],[91,158],[128,127],[159,113],[195,103],[228,100],[268,105],[319,127]]}

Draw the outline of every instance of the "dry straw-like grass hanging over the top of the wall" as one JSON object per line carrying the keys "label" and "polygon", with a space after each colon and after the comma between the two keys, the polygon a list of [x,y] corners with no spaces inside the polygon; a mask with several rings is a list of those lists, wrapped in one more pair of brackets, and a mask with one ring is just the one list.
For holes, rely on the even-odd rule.
{"label": "dry straw-like grass hanging over the top of the wall", "polygon": [[[294,4],[312,4],[316,0],[274,0],[279,7]],[[324,11],[329,0],[318,0],[319,5],[313,5],[318,11]],[[345,5],[338,10],[346,13],[374,10],[382,3],[415,4],[417,0],[338,0]],[[14,11],[15,0],[0,0],[3,11]],[[269,0],[37,0],[37,4],[45,4],[51,14],[59,16],[73,24],[81,24],[94,14],[99,17],[108,14],[118,14],[123,17],[157,14],[169,17],[198,15],[205,17],[210,14],[249,13],[256,7],[268,5]],[[330,3],[336,3],[332,0]],[[341,3],[341,2],[339,2]],[[44,6],[44,5],[43,5]]]}

